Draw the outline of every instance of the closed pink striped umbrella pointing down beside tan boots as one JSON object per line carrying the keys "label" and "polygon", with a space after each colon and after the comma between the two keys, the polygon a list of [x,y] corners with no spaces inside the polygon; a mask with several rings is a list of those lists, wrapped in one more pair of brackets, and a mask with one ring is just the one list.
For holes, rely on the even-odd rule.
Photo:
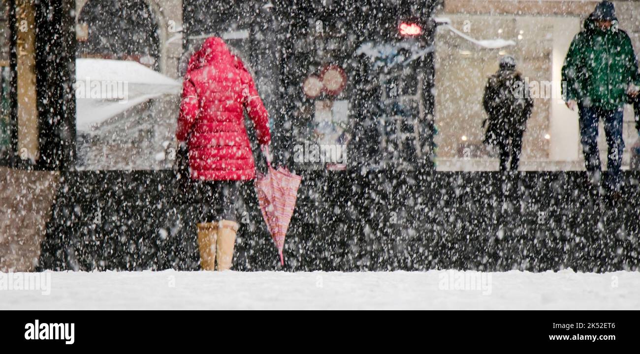
{"label": "closed pink striped umbrella pointing down beside tan boots", "polygon": [[278,170],[271,167],[268,162],[269,172],[264,175],[259,173],[255,181],[255,189],[258,194],[258,203],[262,218],[267,223],[271,238],[278,247],[280,254],[280,264],[284,265],[285,235],[289,230],[293,210],[296,208],[298,199],[298,188],[302,177],[289,172],[287,168],[280,167]]}

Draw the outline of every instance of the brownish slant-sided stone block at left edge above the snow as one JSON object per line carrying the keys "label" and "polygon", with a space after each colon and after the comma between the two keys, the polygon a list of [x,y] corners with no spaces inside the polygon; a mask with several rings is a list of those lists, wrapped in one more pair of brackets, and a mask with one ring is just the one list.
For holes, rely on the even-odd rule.
{"label": "brownish slant-sided stone block at left edge above the snow", "polygon": [[35,269],[58,179],[58,172],[0,167],[0,272]]}

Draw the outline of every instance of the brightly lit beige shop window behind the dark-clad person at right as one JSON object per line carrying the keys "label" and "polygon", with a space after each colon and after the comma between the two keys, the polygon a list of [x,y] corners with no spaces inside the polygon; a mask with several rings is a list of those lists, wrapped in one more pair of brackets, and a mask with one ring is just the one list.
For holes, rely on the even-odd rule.
{"label": "brightly lit beige shop window behind the dark-clad person at right", "polygon": [[[436,35],[436,124],[440,129],[437,169],[491,171],[499,168],[496,147],[483,144],[488,117],[483,109],[484,86],[503,55],[516,58],[516,69],[529,84],[534,108],[524,134],[520,170],[571,171],[584,169],[578,114],[565,107],[561,69],[573,36],[580,31],[577,16],[491,16],[445,13],[451,26],[473,38],[491,38],[487,48],[454,33],[448,26]],[[621,24],[632,26],[632,24]],[[630,165],[637,133],[630,107],[625,111],[627,147],[623,168]],[[600,158],[607,160],[604,130],[600,128]]]}

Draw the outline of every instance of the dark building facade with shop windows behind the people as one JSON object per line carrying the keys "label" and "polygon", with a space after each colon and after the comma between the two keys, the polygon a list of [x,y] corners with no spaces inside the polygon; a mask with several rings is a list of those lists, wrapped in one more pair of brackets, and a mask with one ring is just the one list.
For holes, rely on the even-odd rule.
{"label": "dark building facade with shop windows behind the people", "polygon": [[[514,54],[528,77],[558,81],[593,1],[2,4],[0,271],[196,269],[202,201],[175,181],[173,135],[185,61],[212,35],[256,78],[276,161],[305,176],[289,269],[637,269],[637,191],[602,230],[600,216],[585,219],[587,196],[568,194],[579,174],[540,172],[581,166],[575,117],[557,100],[536,99],[523,165],[538,173],[524,177],[520,209],[497,175],[434,173],[495,169],[476,151],[486,76]],[[639,48],[636,3],[616,5]],[[516,44],[479,50],[446,24]],[[323,146],[346,146],[346,158]],[[237,266],[271,269],[252,193]],[[621,235],[611,263],[575,256],[588,251],[575,240],[595,234]],[[508,260],[540,239],[548,259]],[[466,251],[447,257],[456,247]]]}

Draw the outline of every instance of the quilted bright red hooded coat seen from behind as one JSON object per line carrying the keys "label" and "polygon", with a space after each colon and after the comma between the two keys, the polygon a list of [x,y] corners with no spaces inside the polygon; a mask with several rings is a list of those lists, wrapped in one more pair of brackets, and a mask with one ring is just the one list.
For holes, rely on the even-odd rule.
{"label": "quilted bright red hooded coat seen from behind", "polygon": [[260,145],[269,144],[269,119],[251,74],[220,38],[207,39],[189,60],[176,136],[187,142],[191,178],[246,181],[255,178],[244,110]]}

